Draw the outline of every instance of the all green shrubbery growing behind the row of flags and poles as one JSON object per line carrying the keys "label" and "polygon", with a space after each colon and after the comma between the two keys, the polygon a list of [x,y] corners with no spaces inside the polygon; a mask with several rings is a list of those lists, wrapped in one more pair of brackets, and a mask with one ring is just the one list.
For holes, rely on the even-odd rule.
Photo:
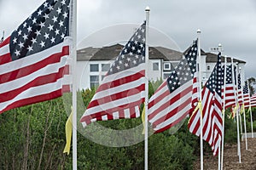
{"label": "all green shrubbery growing behind the row of flags and poles", "polygon": [[[148,96],[154,94],[162,81],[148,84]],[[78,114],[84,112],[96,89],[78,93]],[[63,154],[66,144],[65,123],[71,111],[71,94],[42,103],[6,111],[0,116],[0,169],[72,169],[72,150],[69,156]],[[63,105],[63,100],[65,104]],[[84,104],[83,104],[84,103]],[[84,105],[82,107],[81,105]],[[143,105],[142,105],[143,108]],[[65,110],[66,109],[66,110]],[[255,117],[256,111],[253,110]],[[79,119],[79,117],[78,117]],[[256,117],[253,119],[256,120]],[[142,123],[141,118],[98,122],[113,130],[130,129]],[[188,120],[170,131],[153,134],[148,139],[148,169],[192,169],[193,161],[200,155],[200,140],[189,133]],[[87,127],[86,127],[87,128]],[[89,129],[90,126],[87,128]],[[112,131],[101,128],[88,131],[101,136],[103,140],[119,143],[119,138],[110,139]],[[142,135],[138,132],[136,135]],[[137,136],[134,136],[137,138]],[[107,147],[96,144],[78,133],[78,169],[143,169],[144,143],[127,147]],[[225,143],[236,142],[236,123],[225,122]],[[208,144],[205,151],[212,154]]]}

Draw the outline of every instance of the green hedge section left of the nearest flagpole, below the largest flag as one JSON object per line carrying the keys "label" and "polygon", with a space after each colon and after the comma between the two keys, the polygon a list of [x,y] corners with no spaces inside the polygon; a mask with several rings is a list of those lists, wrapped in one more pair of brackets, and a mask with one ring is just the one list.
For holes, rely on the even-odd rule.
{"label": "green hedge section left of the nearest flagpole, below the largest flag", "polygon": [[61,98],[4,112],[0,116],[0,169],[64,166],[66,119]]}

